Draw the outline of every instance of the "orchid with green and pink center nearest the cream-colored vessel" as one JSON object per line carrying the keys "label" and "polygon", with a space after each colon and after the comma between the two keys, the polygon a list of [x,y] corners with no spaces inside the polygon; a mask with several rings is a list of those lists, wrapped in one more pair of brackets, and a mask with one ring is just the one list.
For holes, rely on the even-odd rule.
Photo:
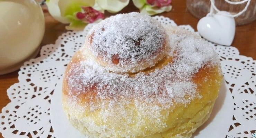
{"label": "orchid with green and pink center nearest the cream-colored vessel", "polygon": [[68,30],[82,30],[88,23],[104,18],[103,10],[94,0],[47,0],[46,4],[56,20],[70,23],[66,26]]}

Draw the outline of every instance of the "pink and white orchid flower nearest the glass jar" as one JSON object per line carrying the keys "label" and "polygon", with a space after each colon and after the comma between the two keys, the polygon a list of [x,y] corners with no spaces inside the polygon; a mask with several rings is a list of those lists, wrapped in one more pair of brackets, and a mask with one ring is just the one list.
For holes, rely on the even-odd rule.
{"label": "pink and white orchid flower nearest the glass jar", "polygon": [[140,13],[148,15],[171,11],[172,9],[172,0],[132,0],[132,2],[139,8]]}

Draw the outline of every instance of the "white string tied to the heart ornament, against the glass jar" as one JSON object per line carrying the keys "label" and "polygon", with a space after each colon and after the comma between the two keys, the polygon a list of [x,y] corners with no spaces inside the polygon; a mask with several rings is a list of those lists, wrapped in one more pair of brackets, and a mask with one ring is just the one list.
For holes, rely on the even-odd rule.
{"label": "white string tied to the heart ornament, against the glass jar", "polygon": [[[220,12],[220,10],[215,6],[214,0],[210,0],[210,1],[211,1],[211,9],[210,9],[210,12],[207,14],[207,16],[212,15],[213,9],[216,10],[217,12]],[[228,2],[229,4],[235,4],[235,5],[247,2],[245,8],[242,11],[238,12],[237,14],[233,14],[233,15],[230,15],[230,16],[225,15],[225,16],[229,16],[229,17],[237,17],[237,16],[240,16],[241,14],[243,14],[247,10],[247,8],[249,7],[249,4],[251,2],[251,0],[243,0],[243,1],[238,1],[238,2],[232,2],[232,1],[229,1],[229,0],[225,0],[225,1]]]}

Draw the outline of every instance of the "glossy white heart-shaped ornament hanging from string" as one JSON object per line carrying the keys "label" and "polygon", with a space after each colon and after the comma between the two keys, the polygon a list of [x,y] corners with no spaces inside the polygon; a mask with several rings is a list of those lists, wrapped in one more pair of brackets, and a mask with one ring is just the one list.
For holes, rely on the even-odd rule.
{"label": "glossy white heart-shaped ornament hanging from string", "polygon": [[214,43],[230,46],[236,31],[235,19],[227,11],[206,16],[197,24],[199,34]]}

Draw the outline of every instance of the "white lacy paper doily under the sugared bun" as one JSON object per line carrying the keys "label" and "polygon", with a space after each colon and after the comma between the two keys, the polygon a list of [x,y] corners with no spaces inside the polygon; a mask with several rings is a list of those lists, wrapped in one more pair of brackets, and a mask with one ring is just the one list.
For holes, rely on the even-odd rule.
{"label": "white lacy paper doily under the sugared bun", "polygon": [[[177,26],[173,20],[155,16],[163,24]],[[46,45],[40,57],[24,63],[19,82],[7,94],[10,103],[0,114],[0,132],[5,138],[86,138],[69,125],[61,103],[62,75],[74,53],[83,46],[83,32],[66,32],[55,44]],[[179,26],[193,31],[189,25]],[[256,64],[239,55],[235,47],[209,42],[221,60],[225,81],[210,119],[194,138],[251,138],[256,129]]]}

